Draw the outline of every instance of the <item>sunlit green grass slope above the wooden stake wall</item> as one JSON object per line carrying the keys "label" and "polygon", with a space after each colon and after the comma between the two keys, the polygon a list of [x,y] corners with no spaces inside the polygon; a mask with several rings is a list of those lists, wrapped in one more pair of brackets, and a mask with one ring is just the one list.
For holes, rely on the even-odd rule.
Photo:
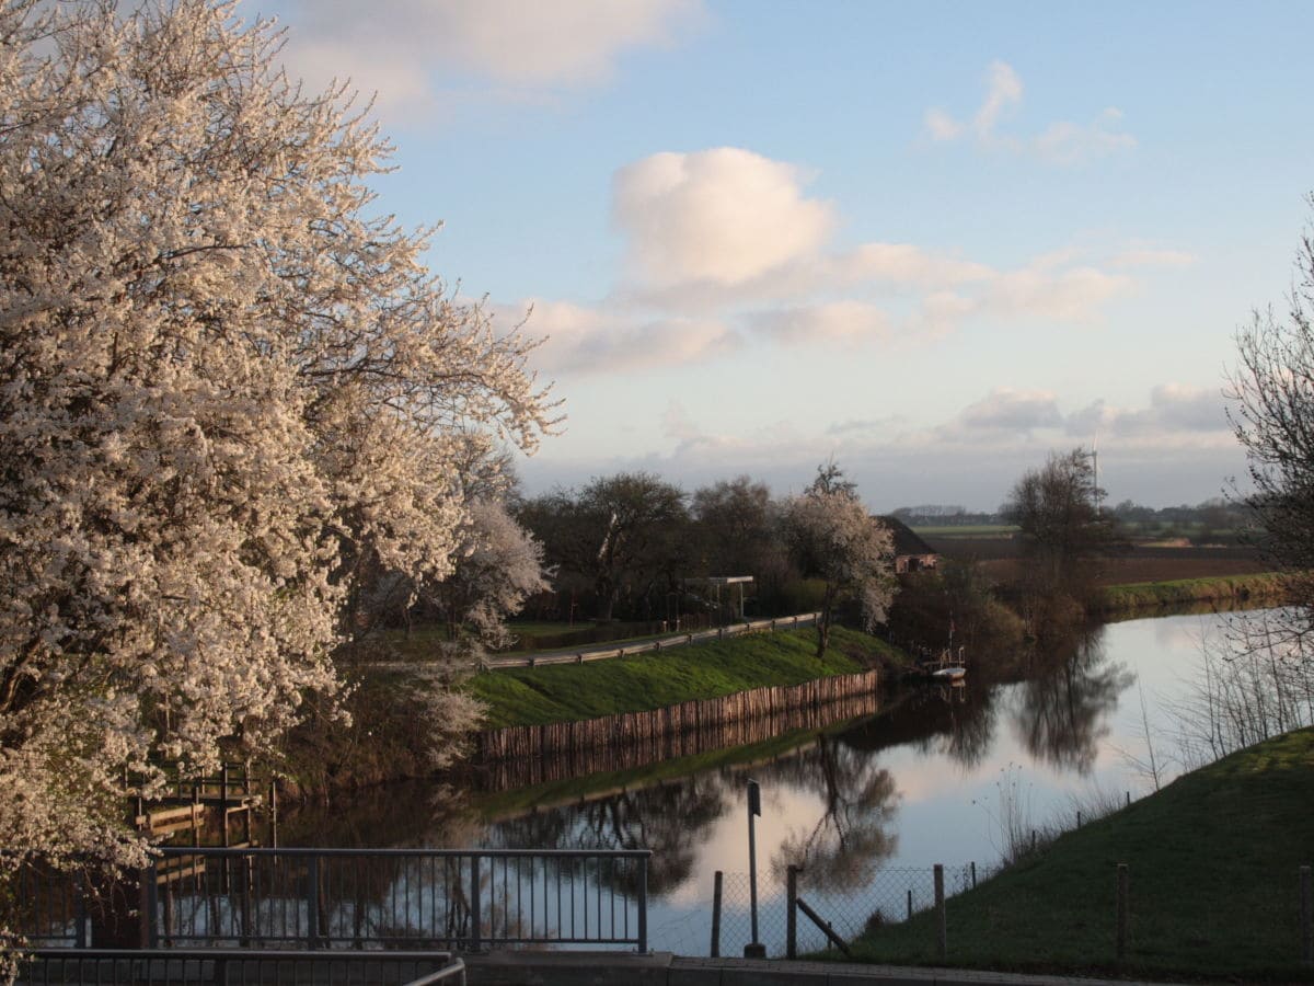
{"label": "sunlit green grass slope above the wooden stake wall", "polygon": [[587,664],[484,672],[465,688],[489,706],[487,727],[499,728],[637,713],[907,660],[884,642],[844,627],[830,631],[824,660],[815,651],[811,628],[752,634]]}

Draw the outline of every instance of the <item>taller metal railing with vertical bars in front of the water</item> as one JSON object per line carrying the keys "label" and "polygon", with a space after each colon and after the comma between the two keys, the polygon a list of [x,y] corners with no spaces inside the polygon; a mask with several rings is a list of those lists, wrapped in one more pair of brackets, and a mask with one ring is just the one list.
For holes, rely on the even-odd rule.
{"label": "taller metal railing with vertical bars in front of the water", "polygon": [[[84,899],[34,868],[17,928],[35,948],[110,944],[97,922],[139,911],[145,948],[447,949],[629,945],[648,951],[641,851],[156,849],[135,880]],[[118,944],[117,941],[114,944]]]}

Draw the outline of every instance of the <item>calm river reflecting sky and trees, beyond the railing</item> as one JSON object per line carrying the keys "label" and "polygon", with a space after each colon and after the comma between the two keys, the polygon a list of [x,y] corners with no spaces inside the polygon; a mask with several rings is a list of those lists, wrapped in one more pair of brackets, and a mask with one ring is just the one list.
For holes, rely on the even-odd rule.
{"label": "calm river reflecting sky and trees, beyond the railing", "polygon": [[[976,669],[963,688],[891,692],[879,715],[824,734],[514,791],[401,784],[352,805],[305,809],[283,844],[489,848],[650,848],[652,947],[707,954],[714,873],[724,870],[723,954],[749,940],[745,789],[756,819],[762,940],[779,953],[783,872],[853,935],[878,908],[928,903],[930,868],[950,890],[1000,864],[1013,839],[1071,827],[1181,770],[1177,718],[1198,680],[1217,614],[1130,619],[1093,628],[1063,653],[1009,677]],[[820,947],[815,929],[804,936]]]}

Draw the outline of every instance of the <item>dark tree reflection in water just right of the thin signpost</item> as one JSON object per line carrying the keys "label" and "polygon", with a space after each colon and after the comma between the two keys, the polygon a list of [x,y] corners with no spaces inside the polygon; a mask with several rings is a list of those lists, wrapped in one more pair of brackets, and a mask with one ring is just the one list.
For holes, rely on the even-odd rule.
{"label": "dark tree reflection in water just right of the thin signpost", "polygon": [[786,866],[802,866],[802,882],[828,890],[854,890],[871,882],[876,868],[894,855],[890,831],[899,791],[890,772],[870,753],[824,734],[815,749],[784,761],[795,781],[821,795],[823,814],[812,828],[790,832],[771,855],[771,873],[781,881]]}

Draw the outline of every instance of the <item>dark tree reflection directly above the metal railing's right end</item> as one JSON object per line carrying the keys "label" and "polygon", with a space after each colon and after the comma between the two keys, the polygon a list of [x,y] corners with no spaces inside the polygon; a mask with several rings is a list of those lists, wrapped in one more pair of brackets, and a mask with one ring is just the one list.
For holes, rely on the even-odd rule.
{"label": "dark tree reflection directly above the metal railing's right end", "polygon": [[648,889],[673,890],[694,872],[698,847],[728,810],[725,781],[694,774],[678,784],[604,798],[495,823],[490,845],[535,849],[652,849]]}

